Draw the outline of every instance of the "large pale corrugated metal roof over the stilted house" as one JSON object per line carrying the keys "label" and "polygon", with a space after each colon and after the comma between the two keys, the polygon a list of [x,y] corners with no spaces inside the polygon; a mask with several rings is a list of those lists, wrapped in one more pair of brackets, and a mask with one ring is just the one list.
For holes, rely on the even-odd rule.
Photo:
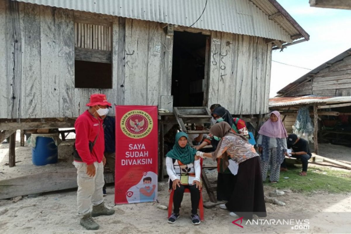
{"label": "large pale corrugated metal roof over the stilted house", "polygon": [[[181,26],[192,25],[203,12],[206,3],[206,0],[18,1]],[[272,0],[265,1],[269,4]],[[294,34],[291,33],[295,33],[291,28],[289,32],[285,31],[277,22],[269,20],[268,15],[253,2],[247,0],[208,0],[204,14],[193,27],[285,42],[292,42],[291,36]]]}

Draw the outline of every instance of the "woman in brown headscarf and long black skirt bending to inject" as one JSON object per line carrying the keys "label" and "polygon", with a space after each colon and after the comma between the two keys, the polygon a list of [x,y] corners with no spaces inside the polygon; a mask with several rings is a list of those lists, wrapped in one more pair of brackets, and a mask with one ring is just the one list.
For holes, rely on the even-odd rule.
{"label": "woman in brown headscarf and long black skirt bending to inject", "polygon": [[220,205],[220,208],[228,209],[231,216],[243,216],[245,219],[252,219],[253,214],[266,217],[260,159],[255,149],[245,136],[233,133],[227,122],[216,123],[211,127],[210,133],[220,138],[216,151],[198,151],[197,155],[213,160],[223,158],[223,168],[229,166],[229,160],[239,164],[237,181],[230,199],[226,204]]}

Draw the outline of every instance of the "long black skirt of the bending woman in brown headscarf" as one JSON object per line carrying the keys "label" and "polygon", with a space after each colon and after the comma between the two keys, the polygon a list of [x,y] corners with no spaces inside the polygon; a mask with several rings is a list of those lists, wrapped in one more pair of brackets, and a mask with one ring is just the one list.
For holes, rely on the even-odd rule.
{"label": "long black skirt of the bending woman in brown headscarf", "polygon": [[237,182],[233,193],[226,203],[228,210],[245,219],[252,219],[253,214],[266,217],[259,157],[256,156],[240,163],[236,176]]}

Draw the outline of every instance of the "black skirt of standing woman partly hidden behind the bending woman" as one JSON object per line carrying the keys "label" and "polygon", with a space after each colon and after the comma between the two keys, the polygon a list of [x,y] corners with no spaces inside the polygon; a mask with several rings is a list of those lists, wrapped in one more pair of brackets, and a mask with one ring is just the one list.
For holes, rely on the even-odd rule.
{"label": "black skirt of standing woman partly hidden behind the bending woman", "polygon": [[217,176],[217,200],[218,201],[229,201],[234,186],[237,180],[237,176],[232,173],[218,173]]}

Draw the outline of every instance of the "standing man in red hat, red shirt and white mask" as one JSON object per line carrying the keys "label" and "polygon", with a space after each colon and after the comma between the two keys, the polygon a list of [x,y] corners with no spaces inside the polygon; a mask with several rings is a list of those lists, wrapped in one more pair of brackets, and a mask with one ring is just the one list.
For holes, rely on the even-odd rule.
{"label": "standing man in red hat, red shirt and white mask", "polygon": [[114,210],[104,204],[102,187],[104,186],[105,139],[101,116],[108,113],[111,103],[105,94],[92,94],[89,109],[75,121],[75,154],[73,164],[77,168],[77,205],[82,216],[80,225],[88,230],[97,230],[99,225],[92,217],[112,215]]}

